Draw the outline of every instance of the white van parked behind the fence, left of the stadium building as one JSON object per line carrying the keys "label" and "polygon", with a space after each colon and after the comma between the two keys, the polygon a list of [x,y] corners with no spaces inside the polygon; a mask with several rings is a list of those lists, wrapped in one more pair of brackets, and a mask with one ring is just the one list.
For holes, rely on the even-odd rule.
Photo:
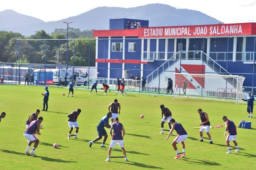
{"label": "white van parked behind the fence, left of the stadium building", "polygon": [[[85,76],[85,74],[81,70],[75,70],[74,74],[76,75],[76,85],[86,85],[88,82],[88,78]],[[66,84],[65,84],[65,75],[66,75]],[[71,81],[71,79],[74,79],[73,75],[73,69],[54,69],[53,70],[53,83],[58,85],[58,82],[60,81],[60,85],[68,85],[68,83]]]}

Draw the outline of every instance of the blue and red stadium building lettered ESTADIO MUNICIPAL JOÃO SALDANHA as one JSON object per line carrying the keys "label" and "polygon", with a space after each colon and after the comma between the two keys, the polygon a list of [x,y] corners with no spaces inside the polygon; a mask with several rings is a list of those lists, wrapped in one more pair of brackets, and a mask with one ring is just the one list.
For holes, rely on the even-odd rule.
{"label": "blue and red stadium building lettered ESTADIO MUNICIPAL JO\u00c3O SALDANHA", "polygon": [[110,19],[109,30],[94,31],[98,77],[138,74],[164,87],[175,72],[227,74],[244,76],[244,91],[255,86],[256,23],[149,27],[140,20],[140,28],[127,29],[128,21],[138,19]]}

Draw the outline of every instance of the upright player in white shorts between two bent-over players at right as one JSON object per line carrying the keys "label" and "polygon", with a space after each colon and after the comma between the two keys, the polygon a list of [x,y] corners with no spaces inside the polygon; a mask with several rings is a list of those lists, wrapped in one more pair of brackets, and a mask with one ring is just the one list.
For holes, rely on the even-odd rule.
{"label": "upright player in white shorts between two bent-over players at right", "polygon": [[203,142],[203,131],[206,130],[206,134],[209,137],[210,143],[213,144],[212,137],[210,136],[209,130],[210,130],[210,121],[208,114],[206,112],[203,112],[202,109],[198,109],[197,112],[200,115],[201,123],[200,123],[200,141]]}

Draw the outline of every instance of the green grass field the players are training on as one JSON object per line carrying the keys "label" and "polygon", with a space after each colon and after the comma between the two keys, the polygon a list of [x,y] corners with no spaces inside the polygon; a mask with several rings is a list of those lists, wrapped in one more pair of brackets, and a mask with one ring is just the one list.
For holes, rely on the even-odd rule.
{"label": "green grass field the players are training on", "polygon": [[[75,97],[62,96],[68,89],[49,87],[49,112],[41,112],[44,118],[38,136],[40,144],[36,149],[38,157],[27,156],[24,151],[27,146],[23,132],[25,121],[37,108],[42,109],[44,87],[1,85],[0,112],[5,111],[6,117],[0,123],[0,169],[255,169],[256,141],[255,119],[247,118],[246,105],[231,102],[172,99],[171,96],[149,96],[142,94],[127,94],[126,96],[103,95],[103,91],[89,96],[88,90],[75,89]],[[100,148],[102,141],[89,147],[88,141],[97,136],[96,126],[106,115],[107,106],[117,98],[121,103],[120,122],[124,124],[126,135],[124,144],[127,157],[111,159],[105,162],[108,148]],[[174,136],[165,142],[167,131],[159,135],[161,112],[159,105],[165,104],[172,111],[172,117],[180,122],[188,132],[186,145],[187,158],[173,159],[176,155],[171,146]],[[69,127],[67,115],[81,108],[79,115],[79,139],[67,139]],[[224,128],[210,129],[214,145],[208,141],[198,142],[199,115],[197,109],[202,108],[209,114],[212,126],[224,125],[222,116],[226,115],[238,126],[241,120],[252,121],[252,128],[238,128],[237,142],[241,153],[225,154]],[[145,118],[140,119],[144,114]],[[169,129],[167,123],[165,129]],[[108,132],[108,129],[106,129]],[[73,131],[74,133],[74,131]],[[205,134],[206,135],[206,134]],[[110,136],[110,135],[109,135]],[[106,146],[110,143],[107,139]],[[59,149],[52,147],[59,144]],[[32,144],[33,145],[33,144]],[[181,152],[181,145],[178,144]],[[233,147],[233,142],[231,143]],[[112,156],[122,156],[121,148],[116,146]]]}

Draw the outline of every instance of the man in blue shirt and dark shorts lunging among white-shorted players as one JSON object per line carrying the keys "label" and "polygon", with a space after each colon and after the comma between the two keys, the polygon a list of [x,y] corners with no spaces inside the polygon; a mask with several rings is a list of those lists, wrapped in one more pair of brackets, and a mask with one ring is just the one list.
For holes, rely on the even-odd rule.
{"label": "man in blue shirt and dark shorts lunging among white-shorted players", "polygon": [[104,139],[103,139],[103,142],[102,142],[102,144],[101,144],[101,148],[106,148],[106,147],[104,146],[104,144],[105,144],[105,142],[106,142],[108,136],[107,136],[107,132],[106,132],[106,130],[104,129],[104,127],[109,128],[109,129],[111,128],[110,124],[108,124],[109,118],[111,118],[111,117],[112,117],[112,113],[111,113],[111,112],[108,112],[107,115],[104,116],[104,117],[100,120],[100,123],[99,123],[98,126],[97,126],[98,137],[96,137],[95,140],[89,142],[90,148],[91,148],[91,146],[92,146],[92,143],[93,143],[93,142],[96,142],[96,141],[98,141],[98,140],[101,140],[101,139],[102,139],[102,136],[104,136]]}

